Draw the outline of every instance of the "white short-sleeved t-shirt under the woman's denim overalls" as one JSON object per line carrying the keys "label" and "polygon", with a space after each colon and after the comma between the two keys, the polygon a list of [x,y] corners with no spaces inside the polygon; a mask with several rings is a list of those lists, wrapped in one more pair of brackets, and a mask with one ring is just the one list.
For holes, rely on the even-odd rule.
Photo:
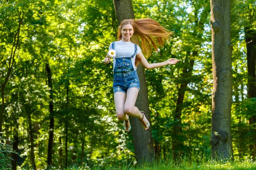
{"label": "white short-sleeved t-shirt under the woman's denim overalls", "polygon": [[[109,45],[109,50],[112,49],[112,43]],[[132,42],[125,42],[125,41],[116,41],[115,42],[115,51],[116,51],[116,58],[124,58],[124,57],[131,57],[134,54],[135,51],[135,45]],[[137,51],[136,51],[136,55],[139,54],[141,51],[139,45],[137,45]],[[135,67],[135,58],[136,55],[131,58],[131,62],[133,65],[134,70],[137,69],[137,67]],[[116,65],[116,60],[113,60],[113,70],[115,68]]]}

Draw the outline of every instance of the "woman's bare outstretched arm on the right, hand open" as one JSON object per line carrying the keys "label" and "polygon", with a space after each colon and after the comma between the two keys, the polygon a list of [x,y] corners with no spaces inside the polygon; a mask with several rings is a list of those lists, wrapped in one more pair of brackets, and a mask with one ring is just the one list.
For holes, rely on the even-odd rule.
{"label": "woman's bare outstretched arm on the right, hand open", "polygon": [[142,52],[137,54],[137,57],[141,58],[140,63],[143,65],[143,67],[145,67],[148,70],[153,68],[163,67],[165,65],[176,64],[178,61],[180,61],[175,58],[170,58],[170,59],[167,59],[165,62],[148,63],[148,60],[143,56]]}

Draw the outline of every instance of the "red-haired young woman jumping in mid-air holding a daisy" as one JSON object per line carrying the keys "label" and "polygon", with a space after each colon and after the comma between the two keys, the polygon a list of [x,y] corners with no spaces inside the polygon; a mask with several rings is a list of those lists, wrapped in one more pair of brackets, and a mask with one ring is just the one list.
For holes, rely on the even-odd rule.
{"label": "red-haired young woman jumping in mid-air holding a daisy", "polygon": [[[146,57],[148,57],[151,54],[151,45],[158,51],[158,46],[163,46],[164,40],[168,39],[171,34],[173,32],[168,31],[155,20],[149,18],[123,20],[118,27],[118,41],[110,44],[104,62],[108,64],[113,58],[113,91],[116,116],[119,120],[124,120],[125,131],[131,130],[129,116],[140,119],[145,130],[150,127],[145,113],[135,107],[140,91],[136,67],[139,62],[146,69],[176,64],[179,60],[174,58],[160,63],[148,63],[142,54],[143,50]],[[138,42],[138,39],[141,42],[142,50],[136,43],[133,43]]]}

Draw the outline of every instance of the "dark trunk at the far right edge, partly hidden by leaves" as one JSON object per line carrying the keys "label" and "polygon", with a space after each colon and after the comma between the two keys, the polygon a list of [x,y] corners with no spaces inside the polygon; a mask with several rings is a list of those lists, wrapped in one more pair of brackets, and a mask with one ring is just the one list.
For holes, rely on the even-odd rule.
{"label": "dark trunk at the far right edge, partly hidden by leaves", "polygon": [[[256,31],[250,30],[245,27],[245,41],[247,48],[247,71],[248,71],[248,98],[256,97]],[[253,111],[254,116],[250,117],[249,123],[253,126],[256,123],[256,113]],[[253,157],[256,156],[256,130],[253,130]]]}

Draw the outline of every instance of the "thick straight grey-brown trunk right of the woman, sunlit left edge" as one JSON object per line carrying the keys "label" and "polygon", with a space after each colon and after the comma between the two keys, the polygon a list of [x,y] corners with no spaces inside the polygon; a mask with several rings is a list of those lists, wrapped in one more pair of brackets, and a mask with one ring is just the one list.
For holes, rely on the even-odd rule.
{"label": "thick straight grey-brown trunk right of the woman, sunlit left edge", "polygon": [[211,0],[212,25],[212,157],[230,159],[231,137],[232,44],[230,0]]}

